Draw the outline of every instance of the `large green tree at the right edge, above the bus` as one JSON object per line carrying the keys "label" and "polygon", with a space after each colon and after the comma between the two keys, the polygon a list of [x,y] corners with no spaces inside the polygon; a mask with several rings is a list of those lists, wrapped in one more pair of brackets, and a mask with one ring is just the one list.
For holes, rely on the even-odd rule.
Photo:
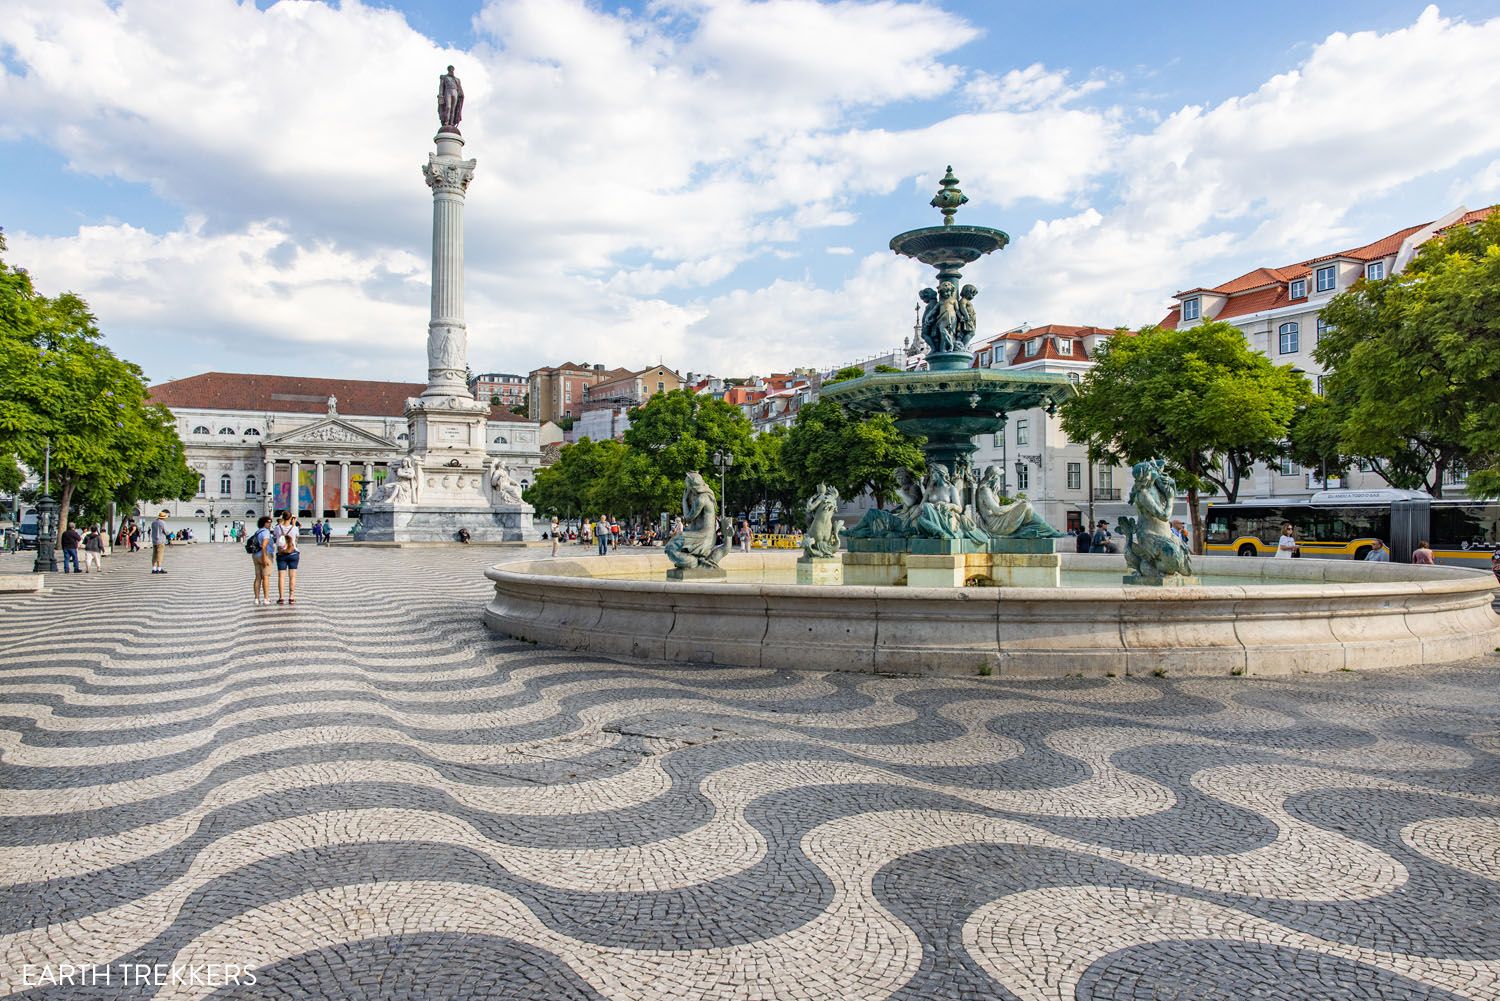
{"label": "large green tree at the right edge, above the bus", "polygon": [[1500,495],[1500,213],[1422,246],[1323,309],[1314,357],[1338,447],[1392,486],[1443,495],[1456,467]]}

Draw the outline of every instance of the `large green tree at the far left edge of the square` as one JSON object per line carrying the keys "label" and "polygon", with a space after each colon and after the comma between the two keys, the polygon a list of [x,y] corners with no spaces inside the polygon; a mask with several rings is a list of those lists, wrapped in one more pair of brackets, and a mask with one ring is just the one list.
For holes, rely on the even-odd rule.
{"label": "large green tree at the far left edge of the square", "polygon": [[[4,242],[0,239],[0,251]],[[51,452],[60,527],[75,497],[100,513],[111,500],[186,500],[198,477],[182,461],[171,416],[147,402],[146,377],[99,342],[87,303],[46,297],[0,261],[0,455],[42,471]]]}

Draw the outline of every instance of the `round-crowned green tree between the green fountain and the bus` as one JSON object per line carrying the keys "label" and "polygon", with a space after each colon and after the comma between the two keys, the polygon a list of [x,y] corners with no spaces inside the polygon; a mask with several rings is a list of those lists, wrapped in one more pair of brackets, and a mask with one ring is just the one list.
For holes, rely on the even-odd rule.
{"label": "round-crowned green tree between the green fountain and the bus", "polygon": [[1306,377],[1252,351],[1227,323],[1146,327],[1114,336],[1062,407],[1062,431],[1094,459],[1164,458],[1188,492],[1194,546],[1203,548],[1198,495],[1230,501],[1254,462],[1278,462],[1287,431],[1312,399]]}

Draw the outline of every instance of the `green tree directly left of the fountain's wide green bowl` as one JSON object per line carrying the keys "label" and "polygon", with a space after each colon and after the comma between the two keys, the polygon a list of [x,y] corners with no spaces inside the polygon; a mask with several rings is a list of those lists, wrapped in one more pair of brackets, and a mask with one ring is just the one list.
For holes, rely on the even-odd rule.
{"label": "green tree directly left of the fountain's wide green bowl", "polygon": [[920,474],[926,468],[921,441],[903,434],[885,414],[861,420],[837,402],[820,399],[796,413],[780,462],[795,501],[828,483],[840,497],[868,491],[876,504],[884,504],[896,492],[896,470]]}

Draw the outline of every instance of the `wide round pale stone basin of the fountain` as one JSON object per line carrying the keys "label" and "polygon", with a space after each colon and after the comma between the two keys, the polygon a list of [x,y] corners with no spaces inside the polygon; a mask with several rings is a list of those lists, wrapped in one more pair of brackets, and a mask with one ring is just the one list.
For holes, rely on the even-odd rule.
{"label": "wide round pale stone basin of the fountain", "polygon": [[[1500,647],[1494,576],[1458,567],[1198,557],[1196,588],[922,588],[795,579],[796,552],[732,554],[668,582],[660,554],[494,566],[484,624],[596,654],[794,671],[1278,675],[1464,660]],[[1062,554],[1064,575],[1113,555]],[[642,579],[630,579],[642,578]],[[1222,581],[1234,581],[1227,584]]]}

